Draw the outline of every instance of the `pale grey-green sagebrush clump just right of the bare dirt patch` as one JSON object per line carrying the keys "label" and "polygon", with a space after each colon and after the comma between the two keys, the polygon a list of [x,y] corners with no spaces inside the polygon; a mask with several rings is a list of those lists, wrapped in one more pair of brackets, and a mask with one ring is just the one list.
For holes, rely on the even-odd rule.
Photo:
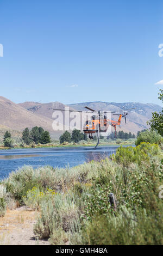
{"label": "pale grey-green sagebrush clump just right of the bare dirt patch", "polygon": [[55,200],[43,200],[41,203],[41,217],[34,225],[34,234],[40,239],[53,236],[56,230],[65,232],[79,230],[78,208],[70,196],[57,194]]}

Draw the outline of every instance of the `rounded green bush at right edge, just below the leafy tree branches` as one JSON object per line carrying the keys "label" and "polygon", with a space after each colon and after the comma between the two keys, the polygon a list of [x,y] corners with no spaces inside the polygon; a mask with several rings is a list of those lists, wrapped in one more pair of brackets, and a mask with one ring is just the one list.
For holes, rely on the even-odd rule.
{"label": "rounded green bush at right edge, just below the leafy tree branches", "polygon": [[151,144],[161,145],[161,143],[163,143],[163,138],[156,131],[146,130],[144,132],[140,132],[139,136],[135,141],[135,145],[140,145],[141,142],[149,142]]}

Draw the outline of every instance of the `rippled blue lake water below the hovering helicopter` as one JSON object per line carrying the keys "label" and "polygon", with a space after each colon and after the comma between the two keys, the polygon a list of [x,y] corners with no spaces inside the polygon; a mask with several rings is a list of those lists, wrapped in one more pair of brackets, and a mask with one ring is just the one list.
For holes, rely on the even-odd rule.
{"label": "rippled blue lake water below the hovering helicopter", "polygon": [[91,147],[0,150],[0,180],[24,165],[33,168],[46,165],[54,168],[72,167],[103,159],[114,154],[117,148],[118,146],[98,147],[96,150]]}

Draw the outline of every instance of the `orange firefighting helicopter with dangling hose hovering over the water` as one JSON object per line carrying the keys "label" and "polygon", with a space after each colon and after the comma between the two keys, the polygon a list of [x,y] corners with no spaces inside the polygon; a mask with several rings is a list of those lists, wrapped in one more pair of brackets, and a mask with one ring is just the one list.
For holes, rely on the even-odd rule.
{"label": "orange firefighting helicopter with dangling hose hovering over the water", "polygon": [[[122,111],[115,111],[115,112],[110,112],[110,111],[101,111],[98,110],[96,111],[95,109],[92,109],[90,107],[85,106],[85,108],[89,111],[75,111],[75,110],[67,110],[67,109],[58,109],[58,108],[53,108],[53,110],[57,111],[69,111],[69,112],[80,112],[80,113],[92,113],[91,120],[86,120],[84,127],[83,127],[83,132],[86,134],[89,134],[89,138],[93,139],[93,134],[97,133],[97,144],[95,149],[97,148],[99,144],[99,133],[101,132],[106,132],[109,125],[114,127],[115,130],[115,138],[117,138],[117,130],[116,126],[121,127],[121,119],[124,118],[125,123],[126,121],[126,116],[128,115],[128,112],[135,112],[133,109],[135,108],[129,108],[125,109],[125,106],[123,106]],[[113,115],[118,115],[118,120],[111,120],[107,119],[107,113],[112,113]]]}

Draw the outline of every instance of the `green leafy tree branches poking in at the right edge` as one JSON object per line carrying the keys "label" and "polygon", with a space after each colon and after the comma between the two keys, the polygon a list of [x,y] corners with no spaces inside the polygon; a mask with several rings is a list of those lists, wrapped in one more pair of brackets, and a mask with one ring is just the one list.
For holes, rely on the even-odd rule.
{"label": "green leafy tree branches poking in at the right edge", "polygon": [[[163,90],[160,89],[159,100],[163,102]],[[163,136],[163,108],[161,112],[152,113],[152,119],[147,122],[151,126],[151,130],[157,131],[161,136]]]}

